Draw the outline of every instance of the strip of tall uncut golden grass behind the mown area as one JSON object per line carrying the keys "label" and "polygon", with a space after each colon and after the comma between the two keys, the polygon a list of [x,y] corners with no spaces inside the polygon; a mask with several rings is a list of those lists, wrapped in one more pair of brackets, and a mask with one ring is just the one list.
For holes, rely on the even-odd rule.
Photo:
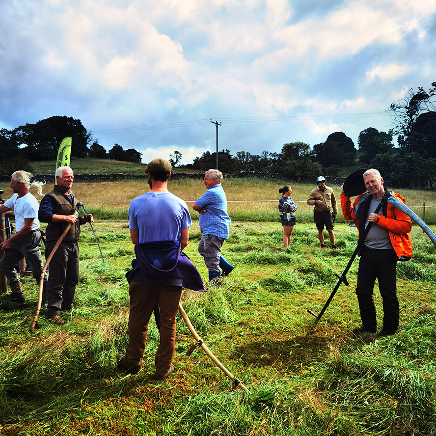
{"label": "strip of tall uncut golden grass behind the mown area", "polygon": [[[109,161],[114,162],[114,161]],[[126,163],[129,164],[129,163]],[[306,203],[310,191],[315,184],[293,183],[289,180],[265,180],[265,179],[232,179],[224,178],[222,186],[227,195],[228,213],[234,221],[248,222],[274,222],[278,220],[277,202],[281,194],[278,189],[288,185],[292,187],[292,199],[298,205],[299,222],[313,222],[313,206]],[[333,188],[340,210],[340,186],[329,185]],[[3,198],[9,198],[12,191],[5,184]],[[46,183],[43,193],[53,189],[52,183]],[[191,204],[205,191],[202,180],[185,179],[168,182],[168,189],[175,195],[185,200],[191,208]],[[92,213],[96,219],[128,219],[130,201],[137,195],[148,191],[146,180],[126,180],[118,182],[75,182],[73,191],[79,201],[82,201],[86,211]],[[395,190],[394,190],[395,191]],[[425,222],[436,224],[436,191],[424,190],[398,190],[405,198],[406,204],[420,218],[423,216],[423,204],[425,203]],[[34,193],[34,188],[31,189]],[[37,198],[38,197],[35,195]],[[192,212],[192,211],[191,211]],[[192,212],[192,219],[197,220],[198,214]],[[336,217],[337,222],[345,223],[342,214]]]}

